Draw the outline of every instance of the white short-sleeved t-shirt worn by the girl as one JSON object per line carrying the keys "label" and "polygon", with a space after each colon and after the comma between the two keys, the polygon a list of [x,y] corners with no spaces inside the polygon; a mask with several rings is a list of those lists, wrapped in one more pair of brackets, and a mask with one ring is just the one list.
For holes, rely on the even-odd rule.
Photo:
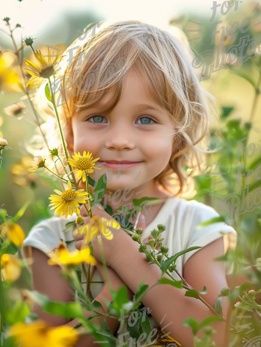
{"label": "white short-sleeved t-shirt worn by the girl", "polygon": [[[162,232],[163,245],[169,248],[168,255],[172,256],[185,248],[193,246],[206,246],[212,241],[222,237],[223,232],[224,242],[225,238],[229,235],[230,242],[232,240],[232,246],[236,243],[236,231],[226,225],[224,222],[213,223],[200,229],[195,227],[203,221],[207,221],[211,218],[217,217],[219,214],[212,207],[200,203],[196,200],[185,200],[180,197],[168,198],[163,204],[162,208],[159,210],[158,214],[154,220],[145,228],[142,234],[142,243],[146,243],[150,232],[153,229],[157,229],[157,225],[162,223],[166,226],[166,230]],[[56,247],[60,242],[68,242],[67,247],[70,251],[75,250],[74,239],[72,236],[73,226],[71,226],[66,233],[63,232],[66,223],[70,221],[75,221],[77,215],[69,215],[67,219],[62,216],[61,218],[53,216],[46,220],[38,222],[28,233],[24,240],[23,246],[21,247],[21,254],[26,262],[26,266],[29,272],[32,273],[31,265],[28,265],[26,258],[31,256],[30,246],[40,249],[42,252],[47,254],[48,251]],[[227,241],[227,240],[226,240]],[[225,243],[226,253],[227,243]],[[230,245],[231,247],[231,245]],[[147,246],[147,249],[151,249]],[[193,251],[187,252],[176,260],[176,270],[183,275],[183,266],[186,261],[199,249],[194,249]],[[47,254],[48,255],[48,254]],[[224,263],[226,273],[232,273],[233,264],[228,268],[228,265]],[[165,276],[166,274],[164,274]],[[172,276],[180,280],[180,277],[175,271],[172,272]],[[169,278],[167,275],[166,278]],[[100,274],[97,269],[95,270],[93,281],[102,281]],[[81,277],[82,282],[86,282],[84,273]],[[91,283],[90,290],[94,297],[98,295],[103,287],[103,283]],[[86,293],[86,283],[82,284],[82,288]],[[135,293],[134,293],[135,294]],[[153,317],[149,316],[151,322],[151,328],[153,325],[158,326]],[[122,332],[127,331],[126,325],[123,327]],[[175,337],[173,337],[175,338]],[[127,337],[128,339],[128,337]]]}

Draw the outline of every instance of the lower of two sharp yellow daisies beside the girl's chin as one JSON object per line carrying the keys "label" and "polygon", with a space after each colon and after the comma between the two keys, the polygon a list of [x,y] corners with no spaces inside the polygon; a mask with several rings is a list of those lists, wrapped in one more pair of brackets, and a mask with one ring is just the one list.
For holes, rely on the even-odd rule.
{"label": "lower of two sharp yellow daisies beside the girl's chin", "polygon": [[88,193],[84,189],[74,190],[72,189],[71,181],[67,182],[68,189],[63,193],[58,191],[58,189],[54,189],[54,192],[58,195],[51,194],[49,199],[51,200],[51,204],[49,206],[54,205],[50,210],[56,209],[54,214],[59,212],[59,218],[65,214],[65,218],[68,215],[72,215],[73,212],[80,214],[80,205],[85,204],[88,200]]}

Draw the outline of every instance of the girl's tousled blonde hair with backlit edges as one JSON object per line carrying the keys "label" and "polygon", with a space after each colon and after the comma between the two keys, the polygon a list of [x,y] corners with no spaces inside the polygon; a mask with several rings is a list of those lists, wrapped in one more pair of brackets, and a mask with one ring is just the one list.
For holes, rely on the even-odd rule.
{"label": "girl's tousled blonde hair with backlit edges", "polygon": [[[114,94],[106,111],[115,107],[125,86],[124,77],[132,68],[175,129],[171,159],[154,179],[173,195],[191,196],[193,176],[206,169],[206,153],[215,152],[207,151],[210,113],[217,121],[219,117],[208,101],[216,98],[199,83],[192,66],[195,57],[183,31],[168,25],[166,30],[159,29],[138,20],[106,20],[88,25],[63,55],[52,81],[65,139],[72,116],[82,108],[92,107],[112,86]],[[58,147],[63,153],[55,113],[44,87],[45,83],[36,91],[34,104],[44,119],[41,127],[49,147]],[[37,155],[44,150],[47,154],[42,148]],[[63,161],[66,165],[64,156]],[[183,170],[185,165],[188,171]]]}

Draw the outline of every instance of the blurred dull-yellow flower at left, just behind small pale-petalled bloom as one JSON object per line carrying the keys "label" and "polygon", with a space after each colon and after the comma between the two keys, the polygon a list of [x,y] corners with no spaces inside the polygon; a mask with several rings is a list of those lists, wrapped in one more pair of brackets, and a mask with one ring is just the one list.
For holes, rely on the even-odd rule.
{"label": "blurred dull-yellow flower at left, just behind small pale-petalled bloom", "polygon": [[18,163],[12,164],[10,172],[13,175],[14,182],[21,186],[36,186],[38,176],[33,172],[28,172],[28,169],[32,167],[31,162],[33,157],[31,155],[24,154]]}

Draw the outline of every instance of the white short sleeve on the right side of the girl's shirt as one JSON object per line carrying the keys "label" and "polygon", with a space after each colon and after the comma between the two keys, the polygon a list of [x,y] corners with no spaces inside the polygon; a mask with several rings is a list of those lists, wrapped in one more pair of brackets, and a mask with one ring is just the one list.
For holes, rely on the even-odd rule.
{"label": "white short sleeve on the right side of the girl's shirt", "polygon": [[[197,229],[197,225],[202,223],[203,221],[208,221],[209,219],[219,217],[219,214],[215,209],[208,205],[193,200],[190,214],[192,222],[186,248],[195,246],[204,247],[220,237],[223,237],[224,240],[224,254],[226,253],[228,247],[235,248],[237,238],[236,231],[234,228],[228,226],[226,223],[212,223]],[[188,259],[200,249],[201,248],[194,249],[193,251],[185,253],[183,258],[183,266],[186,263],[186,261],[188,261]],[[224,266],[226,274],[233,272],[233,263],[228,264],[227,262],[224,262]]]}

